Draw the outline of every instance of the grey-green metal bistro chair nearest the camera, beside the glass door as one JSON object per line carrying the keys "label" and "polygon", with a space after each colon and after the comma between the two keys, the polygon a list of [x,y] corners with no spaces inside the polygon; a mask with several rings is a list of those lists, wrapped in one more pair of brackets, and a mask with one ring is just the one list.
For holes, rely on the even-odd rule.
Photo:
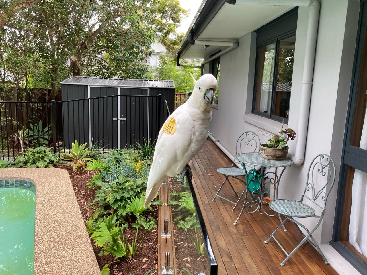
{"label": "grey-green metal bistro chair nearest the camera, beside the glass door", "polygon": [[[317,155],[311,162],[308,168],[308,174],[306,179],[306,187],[303,192],[301,199],[299,201],[291,201],[288,199],[276,199],[269,203],[269,207],[272,208],[277,213],[282,214],[286,219],[278,226],[278,228],[266,239],[265,243],[268,243],[271,238],[273,238],[276,243],[280,246],[284,253],[286,253],[287,257],[281,262],[281,266],[284,266],[284,263],[297,251],[299,247],[305,242],[310,243],[317,252],[321,254],[324,258],[325,263],[329,264],[325,255],[322,253],[319,245],[312,236],[312,233],[315,232],[317,227],[321,224],[325,213],[326,200],[328,195],[330,194],[331,188],[334,186],[335,181],[335,165],[333,159],[329,155],[320,154]],[[315,187],[315,184],[318,186],[322,186],[321,188]],[[305,204],[304,198],[310,202],[314,207],[318,207],[321,209],[320,215],[315,215],[315,209],[311,206]],[[315,227],[312,230],[308,230],[305,225],[301,224],[299,221],[294,218],[308,218],[315,217],[318,220]],[[287,221],[291,220],[297,227],[298,231],[304,237],[304,239],[297,245],[297,247],[288,254],[283,246],[280,245],[279,241],[275,238],[274,234],[282,227],[282,225]],[[301,228],[304,228],[307,235],[305,235]],[[310,239],[309,239],[310,238]]]}

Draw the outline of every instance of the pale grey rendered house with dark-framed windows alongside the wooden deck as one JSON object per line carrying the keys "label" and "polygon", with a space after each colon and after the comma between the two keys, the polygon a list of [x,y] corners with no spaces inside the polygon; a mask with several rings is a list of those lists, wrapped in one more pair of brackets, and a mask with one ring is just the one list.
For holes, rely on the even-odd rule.
{"label": "pale grey rendered house with dark-framed windows alongside the wooden deck", "polygon": [[202,73],[221,66],[209,131],[229,157],[244,131],[277,133],[289,108],[284,129],[297,138],[279,198],[301,196],[317,154],[333,158],[335,186],[314,235],[348,275],[367,274],[366,24],[367,0],[204,0],[178,49],[178,62],[203,58]]}

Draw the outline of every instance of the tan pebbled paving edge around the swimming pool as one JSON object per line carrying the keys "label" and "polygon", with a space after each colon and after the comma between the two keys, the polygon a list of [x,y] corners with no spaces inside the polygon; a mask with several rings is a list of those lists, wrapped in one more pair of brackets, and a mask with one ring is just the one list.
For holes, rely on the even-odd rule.
{"label": "tan pebbled paving edge around the swimming pool", "polygon": [[57,168],[0,169],[0,180],[36,186],[34,275],[100,275],[69,173]]}

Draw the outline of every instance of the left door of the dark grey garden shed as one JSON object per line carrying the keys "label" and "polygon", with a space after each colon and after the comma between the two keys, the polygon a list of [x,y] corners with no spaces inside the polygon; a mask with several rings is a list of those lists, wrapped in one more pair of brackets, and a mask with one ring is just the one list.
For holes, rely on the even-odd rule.
{"label": "left door of the dark grey garden shed", "polygon": [[121,148],[118,95],[117,87],[90,86],[90,139],[103,142],[106,148]]}

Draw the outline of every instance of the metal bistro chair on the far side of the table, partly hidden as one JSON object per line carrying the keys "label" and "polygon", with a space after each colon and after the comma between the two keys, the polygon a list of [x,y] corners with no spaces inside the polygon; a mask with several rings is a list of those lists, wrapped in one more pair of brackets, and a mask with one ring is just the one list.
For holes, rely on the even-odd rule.
{"label": "metal bistro chair on the far side of the table, partly hidden", "polygon": [[[226,201],[229,201],[230,203],[233,203],[235,206],[232,209],[232,212],[235,211],[235,208],[237,207],[237,204],[240,202],[240,199],[244,195],[244,193],[247,191],[247,184],[244,180],[240,179],[241,176],[246,176],[246,172],[244,169],[235,167],[235,164],[241,164],[241,162],[236,161],[237,155],[241,153],[258,153],[260,151],[260,139],[259,136],[251,131],[244,132],[240,137],[237,139],[236,142],[236,154],[235,159],[232,162],[232,166],[230,167],[221,167],[217,169],[217,172],[224,175],[226,178],[223,181],[221,187],[219,187],[219,190],[217,194],[215,194],[212,201],[215,201],[216,197],[225,199]],[[244,184],[244,190],[242,192],[236,191],[235,188],[233,188],[232,184],[229,181],[229,177],[232,179],[237,179],[241,181]],[[238,194],[241,194],[236,202],[230,201],[229,199],[219,195],[219,192],[222,190],[225,182],[228,181],[229,186],[232,188],[233,192],[235,192],[235,195],[238,196]]]}

